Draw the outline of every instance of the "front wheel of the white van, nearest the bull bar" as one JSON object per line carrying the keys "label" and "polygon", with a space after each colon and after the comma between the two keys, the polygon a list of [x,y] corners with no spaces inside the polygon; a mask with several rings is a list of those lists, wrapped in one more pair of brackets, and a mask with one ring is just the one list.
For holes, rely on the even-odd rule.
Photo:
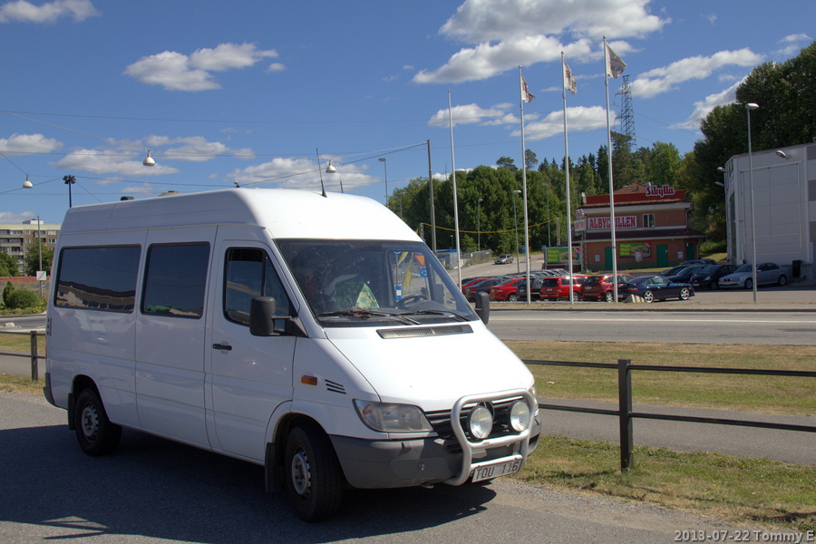
{"label": "front wheel of the white van, nearest the bull bar", "polygon": [[301,520],[325,520],[340,510],[343,471],[332,442],[316,425],[301,425],[289,432],[284,478],[289,502]]}

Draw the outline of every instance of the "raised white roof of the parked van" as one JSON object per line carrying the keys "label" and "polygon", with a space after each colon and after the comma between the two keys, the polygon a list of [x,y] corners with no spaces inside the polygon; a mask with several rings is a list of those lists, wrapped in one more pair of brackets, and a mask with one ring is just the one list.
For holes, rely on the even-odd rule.
{"label": "raised white roof of the parked van", "polygon": [[243,224],[272,238],[420,239],[374,199],[302,189],[220,189],[68,210],[61,234]]}

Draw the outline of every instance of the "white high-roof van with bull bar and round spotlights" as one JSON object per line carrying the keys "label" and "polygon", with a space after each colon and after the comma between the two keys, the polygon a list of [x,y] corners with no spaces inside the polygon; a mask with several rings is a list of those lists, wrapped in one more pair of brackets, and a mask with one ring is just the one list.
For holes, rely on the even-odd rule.
{"label": "white high-roof van with bull bar and round spotlights", "polygon": [[225,189],[70,209],[44,393],[89,455],[128,427],[251,461],[321,520],[357,488],[519,471],[534,380],[372,199]]}

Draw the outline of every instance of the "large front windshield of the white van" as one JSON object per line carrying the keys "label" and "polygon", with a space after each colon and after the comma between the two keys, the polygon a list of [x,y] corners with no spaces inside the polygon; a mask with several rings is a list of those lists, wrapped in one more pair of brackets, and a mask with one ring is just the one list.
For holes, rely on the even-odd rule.
{"label": "large front windshield of the white van", "polygon": [[421,242],[279,239],[276,243],[321,325],[421,325],[478,319]]}

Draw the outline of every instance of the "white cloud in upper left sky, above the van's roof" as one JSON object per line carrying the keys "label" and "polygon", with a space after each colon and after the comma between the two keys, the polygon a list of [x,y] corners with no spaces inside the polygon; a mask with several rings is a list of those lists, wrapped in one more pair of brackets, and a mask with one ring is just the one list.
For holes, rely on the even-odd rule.
{"label": "white cloud in upper left sky, above the van's roof", "polygon": [[[210,91],[221,88],[212,72],[247,68],[268,57],[277,58],[277,52],[257,50],[255,44],[220,44],[214,49],[198,49],[189,56],[165,51],[141,57],[125,69],[125,74],[168,91]],[[285,68],[273,63],[268,70],[279,72]]]}

